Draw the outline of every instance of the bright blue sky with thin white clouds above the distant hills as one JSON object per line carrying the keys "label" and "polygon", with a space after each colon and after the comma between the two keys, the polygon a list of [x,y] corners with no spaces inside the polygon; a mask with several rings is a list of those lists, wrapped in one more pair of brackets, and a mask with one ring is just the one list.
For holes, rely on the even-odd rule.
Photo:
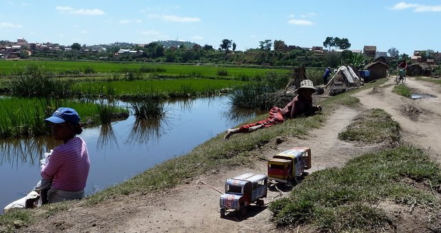
{"label": "bright blue sky with thin white clouds above the distant hills", "polygon": [[0,40],[60,45],[191,41],[236,50],[267,39],[322,46],[348,38],[349,49],[376,45],[400,54],[441,51],[441,0],[0,0]]}

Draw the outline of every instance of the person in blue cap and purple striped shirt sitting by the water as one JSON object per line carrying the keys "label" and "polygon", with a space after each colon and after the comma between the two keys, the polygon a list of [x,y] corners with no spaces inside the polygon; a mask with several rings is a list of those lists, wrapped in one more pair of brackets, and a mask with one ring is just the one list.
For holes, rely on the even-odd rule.
{"label": "person in blue cap and purple striped shirt sitting by the water", "polygon": [[55,140],[62,140],[64,143],[51,151],[47,164],[41,168],[41,183],[52,182],[47,194],[48,203],[84,197],[90,159],[84,140],[76,136],[83,131],[80,120],[74,109],[64,107],[45,119],[45,122],[51,123]]}

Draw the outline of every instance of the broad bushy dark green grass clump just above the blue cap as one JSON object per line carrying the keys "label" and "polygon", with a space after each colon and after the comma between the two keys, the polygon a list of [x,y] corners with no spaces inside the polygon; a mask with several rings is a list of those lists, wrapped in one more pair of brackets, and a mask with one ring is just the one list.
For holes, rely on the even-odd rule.
{"label": "broad bushy dark green grass clump just above the blue cap", "polygon": [[52,72],[39,65],[29,65],[8,83],[13,96],[65,98],[70,95],[72,81],[54,78]]}

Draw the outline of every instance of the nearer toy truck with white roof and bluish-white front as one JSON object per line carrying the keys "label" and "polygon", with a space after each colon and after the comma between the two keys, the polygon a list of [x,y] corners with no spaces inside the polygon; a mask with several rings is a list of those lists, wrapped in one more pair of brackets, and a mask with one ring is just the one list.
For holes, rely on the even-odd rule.
{"label": "nearer toy truck with white roof and bluish-white front", "polygon": [[246,207],[256,202],[263,206],[263,197],[267,197],[267,175],[245,173],[225,181],[225,194],[220,196],[220,217],[225,216],[225,210],[234,209],[240,214],[247,213]]}

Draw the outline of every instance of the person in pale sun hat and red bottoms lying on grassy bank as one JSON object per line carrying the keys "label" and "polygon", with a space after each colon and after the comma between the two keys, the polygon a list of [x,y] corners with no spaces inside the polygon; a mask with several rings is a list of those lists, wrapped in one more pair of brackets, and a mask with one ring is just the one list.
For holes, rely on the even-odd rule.
{"label": "person in pale sun hat and red bottoms lying on grassy bank", "polygon": [[223,139],[229,139],[229,137],[234,133],[249,133],[256,131],[257,129],[282,123],[285,119],[308,116],[314,114],[316,111],[322,111],[322,107],[320,105],[312,105],[312,94],[315,91],[316,89],[314,88],[311,80],[302,80],[302,82],[300,82],[300,87],[295,91],[298,93],[298,95],[294,97],[294,99],[291,100],[291,102],[289,102],[285,108],[280,109],[278,107],[273,107],[269,111],[269,118],[265,120],[240,126],[236,129],[228,129]]}

